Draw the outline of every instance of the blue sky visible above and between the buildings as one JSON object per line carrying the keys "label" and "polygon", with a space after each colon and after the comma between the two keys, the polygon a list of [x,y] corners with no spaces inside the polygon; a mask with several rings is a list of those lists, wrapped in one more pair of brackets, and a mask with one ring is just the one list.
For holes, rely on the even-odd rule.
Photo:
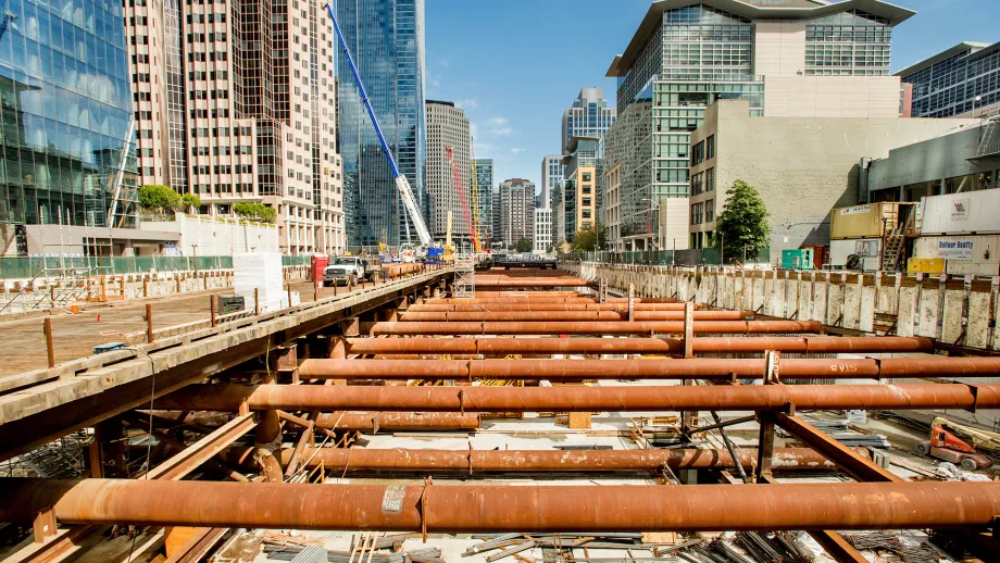
{"label": "blue sky visible above and between the buildings", "polygon": [[[604,77],[649,0],[425,0],[427,98],[454,101],[473,122],[476,153],[495,182],[538,184],[541,159],[560,152],[562,112]],[[895,0],[917,12],[892,37],[892,71],[961,41],[1000,41],[1000,0]]]}

